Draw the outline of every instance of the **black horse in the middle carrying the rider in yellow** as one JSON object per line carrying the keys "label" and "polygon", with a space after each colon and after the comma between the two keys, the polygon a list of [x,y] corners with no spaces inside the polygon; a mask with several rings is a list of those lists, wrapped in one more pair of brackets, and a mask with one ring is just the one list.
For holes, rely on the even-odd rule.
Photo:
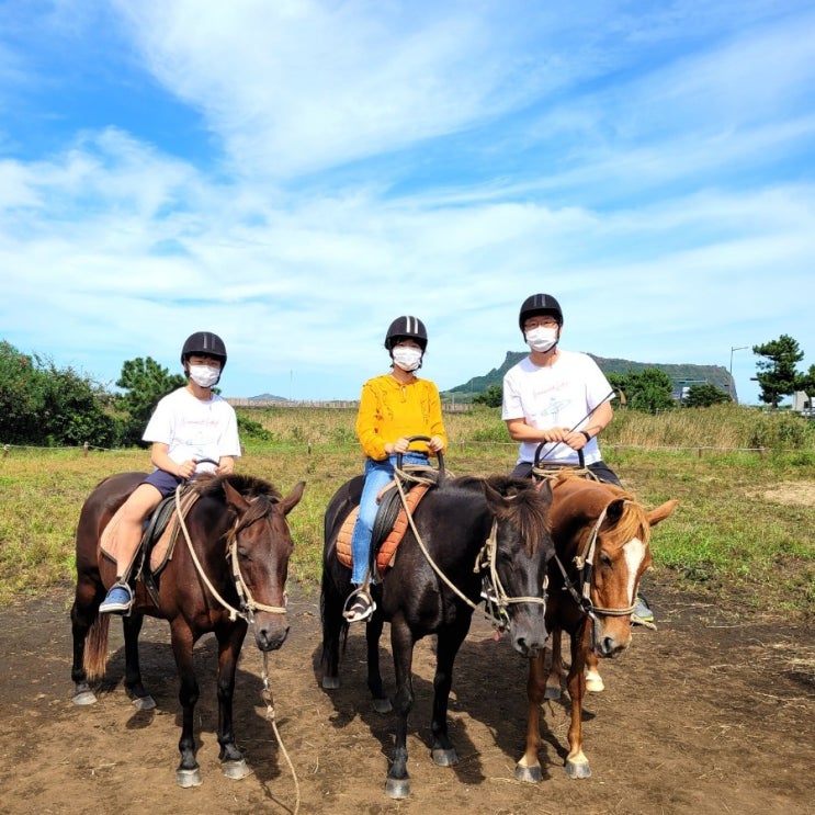
{"label": "black horse in the middle carrying the rider in yellow", "polygon": [[[352,586],[351,570],[337,558],[342,522],[359,503],[362,476],[346,483],[325,517],[322,559],[322,687],[339,687],[340,644],[348,635],[342,609]],[[442,478],[416,507],[393,567],[373,587],[376,611],[366,624],[367,686],[380,712],[392,705],[380,673],[378,641],[390,623],[396,693],[396,749],[387,773],[390,797],[410,792],[407,771],[407,720],[414,703],[411,664],[415,644],[438,636],[431,756],[453,765],[457,756],[448,736],[448,700],[453,661],[469,630],[473,610],[486,585],[491,607],[509,626],[514,648],[534,656],[546,639],[543,584],[554,545],[548,532],[552,496],[528,480],[503,476]]]}

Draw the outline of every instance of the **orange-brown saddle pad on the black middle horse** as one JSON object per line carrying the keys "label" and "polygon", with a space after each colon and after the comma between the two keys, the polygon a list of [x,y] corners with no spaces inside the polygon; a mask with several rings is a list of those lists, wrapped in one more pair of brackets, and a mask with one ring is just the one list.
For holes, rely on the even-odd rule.
{"label": "orange-brown saddle pad on the black middle horse", "polygon": [[[407,510],[412,514],[419,501],[425,497],[432,484],[407,485],[405,500]],[[371,574],[378,578],[390,568],[396,557],[396,551],[408,529],[408,516],[401,502],[396,482],[388,484],[376,497],[380,508],[371,534]],[[337,559],[346,567],[351,568],[353,557],[351,554],[351,536],[360,514],[359,506],[354,507],[342,522],[337,535]]]}

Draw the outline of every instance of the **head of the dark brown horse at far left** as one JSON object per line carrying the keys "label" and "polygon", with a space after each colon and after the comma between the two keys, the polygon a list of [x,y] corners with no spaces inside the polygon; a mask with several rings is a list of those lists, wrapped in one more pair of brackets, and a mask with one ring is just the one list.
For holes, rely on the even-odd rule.
{"label": "head of the dark brown horse at far left", "polygon": [[252,623],[254,642],[275,650],[288,635],[285,585],[294,542],[286,516],[303,497],[301,482],[285,497],[260,479],[223,479],[227,506],[235,514],[227,535],[228,556],[242,611]]}

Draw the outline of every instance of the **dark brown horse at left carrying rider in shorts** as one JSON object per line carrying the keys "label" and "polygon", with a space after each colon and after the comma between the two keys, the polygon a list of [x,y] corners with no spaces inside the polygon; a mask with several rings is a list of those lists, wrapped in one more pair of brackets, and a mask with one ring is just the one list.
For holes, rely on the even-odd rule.
{"label": "dark brown horse at left carrying rider in shorts", "polygon": [[[116,569],[102,554],[100,537],[143,479],[144,473],[106,478],[91,493],[79,516],[77,591],[71,609],[75,704],[95,702],[90,682],[104,676],[107,659],[110,614],[99,614],[99,605],[116,578]],[[249,623],[262,652],[280,648],[288,633],[284,591],[293,543],[286,516],[304,488],[301,483],[281,498],[272,485],[251,476],[201,476],[193,486],[197,500],[183,521],[171,558],[155,578],[152,591],[142,580],[136,585],[133,611],[123,618],[125,688],[138,708],[155,708],[142,684],[138,634],[145,614],[167,620],[181,684],[181,763],[176,773],[180,786],[202,781],[193,734],[199,699],[193,646],[207,632],[214,632],[218,642],[222,769],[229,778],[244,778],[249,772],[233,731],[235,672]]]}

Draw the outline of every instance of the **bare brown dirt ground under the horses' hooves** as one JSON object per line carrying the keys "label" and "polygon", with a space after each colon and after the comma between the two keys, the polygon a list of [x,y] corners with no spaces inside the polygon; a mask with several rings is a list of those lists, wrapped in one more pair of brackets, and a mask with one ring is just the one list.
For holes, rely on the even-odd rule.
{"label": "bare brown dirt ground under the horses' hooves", "polygon": [[[810,625],[749,616],[647,580],[658,631],[637,629],[629,653],[601,664],[607,690],[588,699],[587,780],[569,780],[565,703],[546,703],[544,781],[514,780],[524,733],[525,665],[489,626],[474,622],[456,661],[451,735],[461,762],[434,766],[428,724],[432,639],[415,661],[411,796],[384,792],[392,716],[376,714],[364,686],[364,638],[354,626],[343,686],[318,681],[316,595],[294,591],[291,634],[271,658],[276,721],[296,771],[301,813],[815,813],[815,635]],[[122,683],[121,626],[99,702],[71,703],[70,587],[2,612],[0,704],[4,813],[290,813],[296,788],[261,701],[262,659],[247,637],[238,672],[236,731],[253,774],[218,767],[215,649],[196,649],[196,713],[204,783],[176,785],[177,679],[167,624],[147,620],[145,683],[157,702],[137,712]],[[388,646],[383,643],[383,649]],[[392,683],[389,657],[383,660]]]}

